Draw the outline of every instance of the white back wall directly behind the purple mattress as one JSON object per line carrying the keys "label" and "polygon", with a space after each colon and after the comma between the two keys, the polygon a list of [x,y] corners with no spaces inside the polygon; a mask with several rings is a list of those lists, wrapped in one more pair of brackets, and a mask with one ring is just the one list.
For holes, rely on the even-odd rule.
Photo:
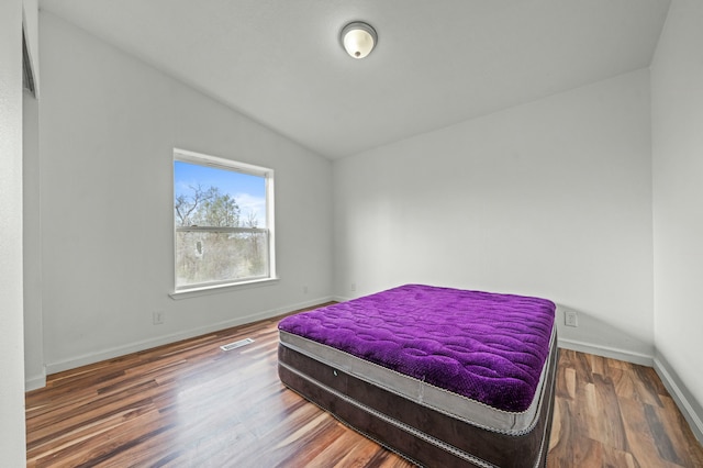
{"label": "white back wall directly behind the purple mattress", "polygon": [[648,70],[342,159],[335,291],[550,298],[562,345],[651,363],[650,167]]}

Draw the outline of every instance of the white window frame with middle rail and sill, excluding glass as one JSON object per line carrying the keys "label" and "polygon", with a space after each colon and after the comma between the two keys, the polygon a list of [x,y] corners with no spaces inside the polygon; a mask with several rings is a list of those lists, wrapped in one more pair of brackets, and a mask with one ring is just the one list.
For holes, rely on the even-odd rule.
{"label": "white window frame with middle rail and sill, excluding glass", "polygon": [[[225,288],[255,286],[270,281],[277,281],[276,274],[276,230],[275,230],[275,204],[274,204],[274,169],[255,166],[252,164],[239,163],[216,156],[204,155],[201,153],[190,152],[187,149],[174,148],[174,164],[176,161],[197,164],[200,166],[209,166],[223,170],[231,170],[252,176],[263,177],[266,181],[266,227],[209,227],[209,226],[190,226],[179,227],[176,225],[176,215],[174,213],[172,200],[176,194],[175,174],[171,172],[171,226],[174,229],[174,292],[170,294],[174,299],[178,296],[192,296],[192,293],[207,293],[220,291]],[[200,231],[200,232],[268,232],[268,276],[257,278],[245,278],[241,280],[210,281],[204,283],[178,286],[177,281],[177,233],[179,231]]]}

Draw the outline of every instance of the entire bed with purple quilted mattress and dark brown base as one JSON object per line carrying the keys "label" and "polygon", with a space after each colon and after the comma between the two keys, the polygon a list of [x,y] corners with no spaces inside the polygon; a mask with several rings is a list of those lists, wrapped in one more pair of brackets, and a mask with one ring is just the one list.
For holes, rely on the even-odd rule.
{"label": "entire bed with purple quilted mattress and dark brown base", "polygon": [[279,376],[427,466],[542,467],[558,350],[551,301],[406,285],[279,323]]}

